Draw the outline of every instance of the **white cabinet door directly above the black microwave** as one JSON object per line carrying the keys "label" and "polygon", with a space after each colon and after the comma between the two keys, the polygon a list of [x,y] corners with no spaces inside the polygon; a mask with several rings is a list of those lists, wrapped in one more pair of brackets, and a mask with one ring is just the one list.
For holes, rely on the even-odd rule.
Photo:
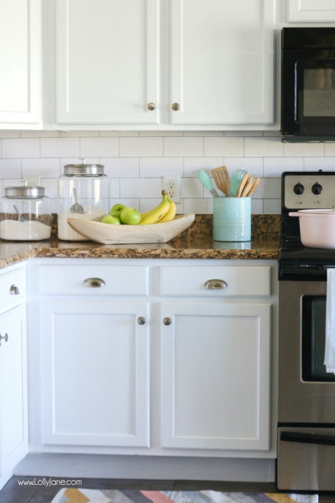
{"label": "white cabinet door directly above the black microwave", "polygon": [[335,21],[334,0],[288,0],[288,22],[325,22]]}

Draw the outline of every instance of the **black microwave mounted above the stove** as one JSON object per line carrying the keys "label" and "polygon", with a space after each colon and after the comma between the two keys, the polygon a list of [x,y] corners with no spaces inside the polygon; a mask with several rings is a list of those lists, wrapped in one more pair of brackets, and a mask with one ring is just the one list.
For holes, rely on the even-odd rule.
{"label": "black microwave mounted above the stove", "polygon": [[335,28],[283,28],[283,141],[335,141]]}

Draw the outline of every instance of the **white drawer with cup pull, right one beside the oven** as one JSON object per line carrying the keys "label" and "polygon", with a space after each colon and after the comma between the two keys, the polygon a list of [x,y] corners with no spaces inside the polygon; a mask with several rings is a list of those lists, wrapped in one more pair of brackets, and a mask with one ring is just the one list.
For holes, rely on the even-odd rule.
{"label": "white drawer with cup pull, right one beside the oven", "polygon": [[271,267],[162,267],[161,294],[210,297],[269,296],[271,295]]}

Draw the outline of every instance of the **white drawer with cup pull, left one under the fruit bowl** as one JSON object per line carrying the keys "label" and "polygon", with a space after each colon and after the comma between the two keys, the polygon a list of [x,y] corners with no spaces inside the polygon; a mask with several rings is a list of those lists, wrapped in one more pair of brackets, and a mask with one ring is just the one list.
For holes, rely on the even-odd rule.
{"label": "white drawer with cup pull, left one under the fruit bowl", "polygon": [[[146,266],[40,266],[42,294],[148,295]],[[100,287],[89,286],[102,280]],[[101,281],[97,281],[101,284]],[[86,285],[86,286],[85,286]]]}

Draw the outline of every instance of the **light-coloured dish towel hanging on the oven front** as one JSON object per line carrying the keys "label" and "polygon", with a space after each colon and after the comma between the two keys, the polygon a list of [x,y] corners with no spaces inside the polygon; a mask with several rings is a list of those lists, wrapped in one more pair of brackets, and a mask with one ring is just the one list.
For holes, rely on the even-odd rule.
{"label": "light-coloured dish towel hanging on the oven front", "polygon": [[325,307],[325,349],[326,372],[335,374],[335,269],[327,269],[327,297]]}

